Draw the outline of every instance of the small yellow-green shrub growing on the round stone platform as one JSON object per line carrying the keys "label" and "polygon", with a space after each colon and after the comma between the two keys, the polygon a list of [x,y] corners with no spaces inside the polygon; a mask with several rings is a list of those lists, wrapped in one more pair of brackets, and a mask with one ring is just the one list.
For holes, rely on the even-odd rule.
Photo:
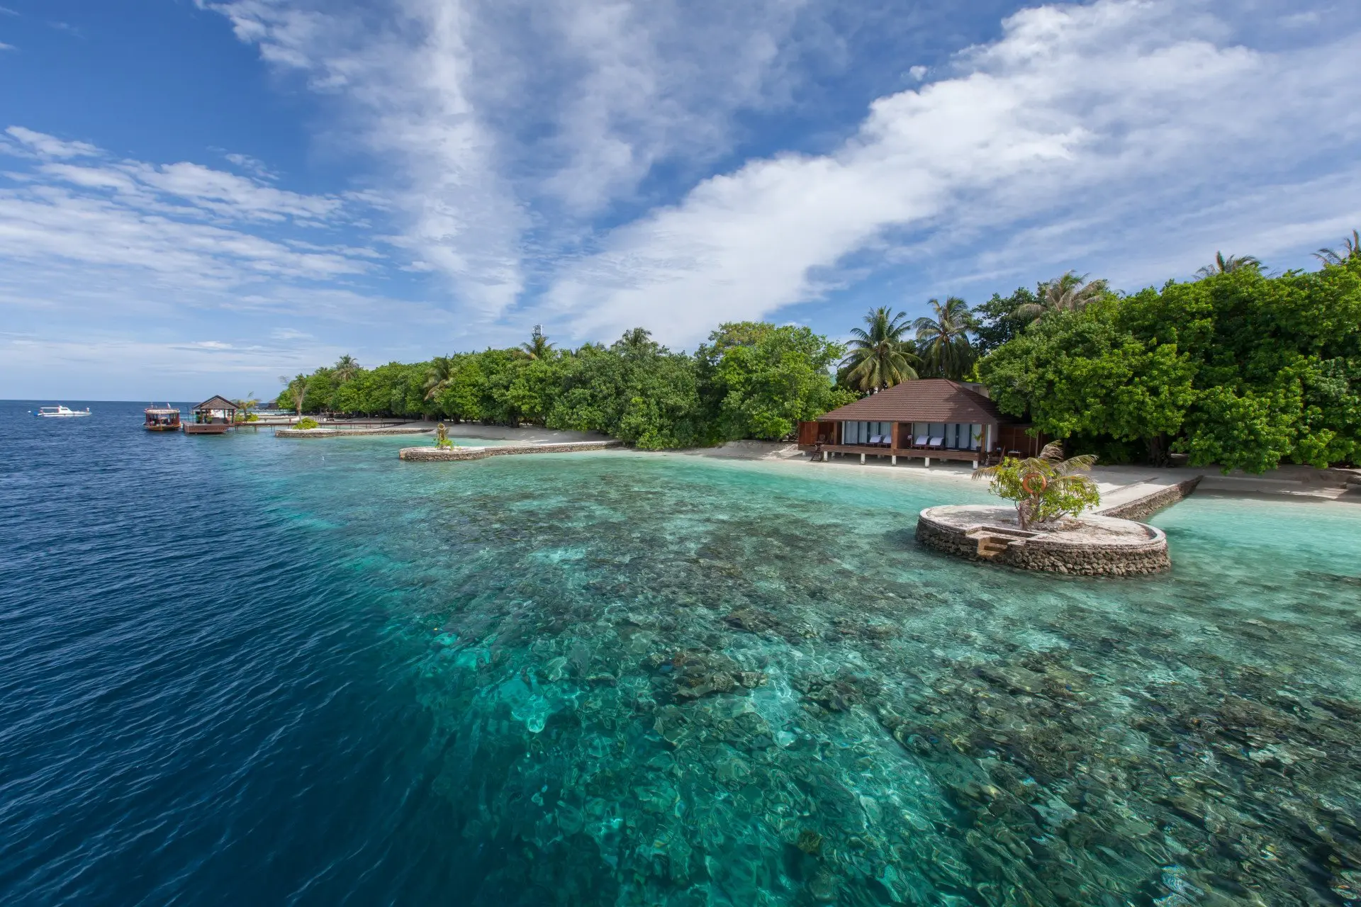
{"label": "small yellow-green shrub growing on the round stone platform", "polygon": [[992,494],[1017,502],[1017,521],[1022,529],[1064,515],[1075,517],[1101,503],[1097,484],[1082,475],[1092,468],[1096,457],[1085,454],[1064,460],[1062,450],[1060,445],[1049,443],[1038,457],[1007,457],[996,466],[977,469],[973,477],[989,479]]}

